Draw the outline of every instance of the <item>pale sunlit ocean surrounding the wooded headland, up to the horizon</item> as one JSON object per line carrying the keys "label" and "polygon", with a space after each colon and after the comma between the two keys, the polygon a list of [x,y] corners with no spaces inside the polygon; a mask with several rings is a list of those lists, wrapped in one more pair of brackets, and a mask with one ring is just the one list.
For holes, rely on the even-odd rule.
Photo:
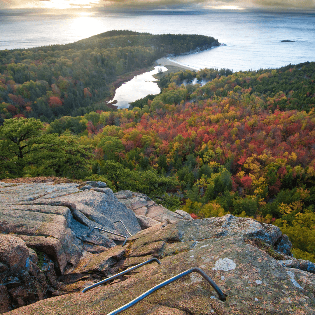
{"label": "pale sunlit ocean surrounding the wooded headland, up to the horizon", "polygon": [[226,45],[172,58],[196,68],[246,71],[315,60],[314,12],[160,10],[44,13],[1,10],[0,49],[72,43],[112,29],[152,34],[201,34],[213,36]]}

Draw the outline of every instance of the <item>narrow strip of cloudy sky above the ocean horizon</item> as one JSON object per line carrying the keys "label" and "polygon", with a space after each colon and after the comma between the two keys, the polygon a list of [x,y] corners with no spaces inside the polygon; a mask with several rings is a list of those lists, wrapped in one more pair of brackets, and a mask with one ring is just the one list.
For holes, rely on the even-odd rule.
{"label": "narrow strip of cloudy sky above the ocean horizon", "polygon": [[0,9],[297,9],[315,10],[315,0],[0,0]]}

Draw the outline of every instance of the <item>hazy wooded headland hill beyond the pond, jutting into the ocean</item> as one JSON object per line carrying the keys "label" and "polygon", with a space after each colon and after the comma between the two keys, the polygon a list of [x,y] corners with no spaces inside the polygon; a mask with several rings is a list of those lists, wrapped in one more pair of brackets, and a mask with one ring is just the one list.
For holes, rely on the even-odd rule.
{"label": "hazy wooded headland hill beyond the pond, jutting into the ocean", "polygon": [[117,76],[166,54],[219,46],[202,35],[108,31],[76,43],[0,51],[0,124],[13,117],[51,122],[106,109]]}

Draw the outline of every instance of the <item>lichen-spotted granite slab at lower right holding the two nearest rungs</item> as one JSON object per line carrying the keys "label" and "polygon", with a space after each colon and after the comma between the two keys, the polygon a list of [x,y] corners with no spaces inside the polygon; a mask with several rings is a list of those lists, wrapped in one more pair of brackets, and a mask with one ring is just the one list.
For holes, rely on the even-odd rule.
{"label": "lichen-spotted granite slab at lower right holding the two nearest rungs", "polygon": [[[103,274],[101,278],[108,277],[152,256],[161,265],[153,262],[130,272],[123,281],[116,280],[86,293],[55,296],[13,310],[9,315],[107,314],[192,267],[208,274],[226,295],[226,301],[219,300],[202,276],[192,273],[147,296],[124,314],[314,315],[314,275],[281,266],[267,252],[245,242],[256,238],[274,245],[277,236],[280,238],[281,233],[272,226],[231,215],[159,223],[130,237],[124,253],[121,246],[116,246],[99,255],[87,255],[86,261],[80,261],[77,274],[82,268],[86,275],[95,269],[100,276]],[[80,277],[77,288],[86,286],[84,281],[91,284],[90,278]]]}

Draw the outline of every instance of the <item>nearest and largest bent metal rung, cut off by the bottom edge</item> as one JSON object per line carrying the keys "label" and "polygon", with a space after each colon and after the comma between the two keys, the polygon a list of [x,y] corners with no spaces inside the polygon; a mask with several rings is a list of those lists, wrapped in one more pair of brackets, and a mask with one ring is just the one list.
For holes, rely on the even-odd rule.
{"label": "nearest and largest bent metal rung, cut off by the bottom edge", "polygon": [[157,284],[152,289],[150,289],[150,290],[146,291],[145,293],[139,295],[137,298],[135,298],[131,302],[129,302],[129,303],[127,303],[127,304],[117,308],[115,311],[112,311],[112,312],[108,313],[107,315],[116,315],[116,314],[119,314],[119,313],[121,313],[123,311],[126,311],[129,307],[137,304],[138,302],[143,300],[145,297],[147,297],[151,293],[157,291],[158,289],[161,289],[161,288],[165,287],[167,284],[170,284],[170,283],[178,280],[179,278],[184,277],[184,276],[186,276],[186,275],[188,275],[188,274],[190,274],[192,272],[200,273],[203,276],[203,278],[205,280],[207,280],[209,282],[209,284],[211,284],[213,289],[215,289],[216,293],[219,295],[220,300],[221,301],[226,301],[226,298],[225,298],[224,294],[222,293],[221,289],[215,284],[215,282],[205,272],[203,272],[203,270],[201,270],[199,268],[191,268],[191,269],[188,269],[188,270],[186,270],[184,272],[181,272],[177,276],[174,276],[174,277],[172,277],[172,278],[170,278],[168,280],[163,281],[160,284]]}

